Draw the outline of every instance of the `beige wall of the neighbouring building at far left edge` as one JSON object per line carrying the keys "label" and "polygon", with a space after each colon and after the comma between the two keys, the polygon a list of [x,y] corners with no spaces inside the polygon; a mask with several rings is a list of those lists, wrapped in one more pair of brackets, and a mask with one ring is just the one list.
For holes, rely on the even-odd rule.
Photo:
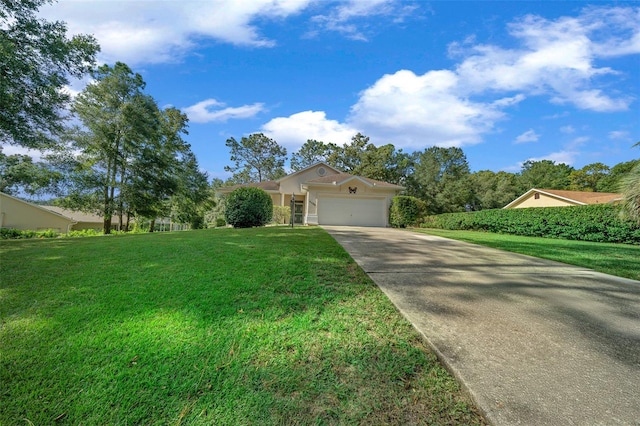
{"label": "beige wall of the neighbouring building at far left edge", "polygon": [[0,227],[40,231],[53,229],[66,233],[73,224],[71,219],[44,208],[0,194]]}

